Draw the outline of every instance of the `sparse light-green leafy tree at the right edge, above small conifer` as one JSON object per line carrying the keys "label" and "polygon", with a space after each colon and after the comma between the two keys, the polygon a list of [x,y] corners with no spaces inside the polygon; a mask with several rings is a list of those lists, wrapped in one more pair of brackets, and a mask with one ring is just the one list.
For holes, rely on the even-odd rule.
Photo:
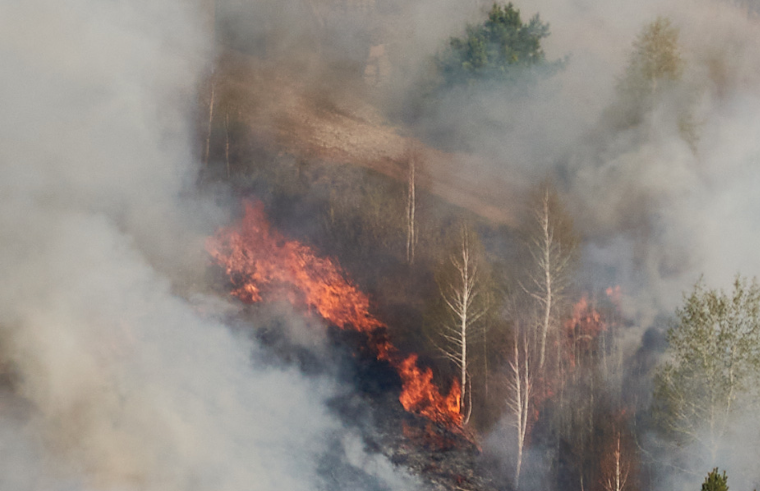
{"label": "sparse light-green leafy tree at the right edge, above small conifer", "polygon": [[698,442],[714,456],[730,417],[758,394],[760,287],[736,277],[727,294],[698,282],[676,310],[667,340],[655,413],[676,440]]}

